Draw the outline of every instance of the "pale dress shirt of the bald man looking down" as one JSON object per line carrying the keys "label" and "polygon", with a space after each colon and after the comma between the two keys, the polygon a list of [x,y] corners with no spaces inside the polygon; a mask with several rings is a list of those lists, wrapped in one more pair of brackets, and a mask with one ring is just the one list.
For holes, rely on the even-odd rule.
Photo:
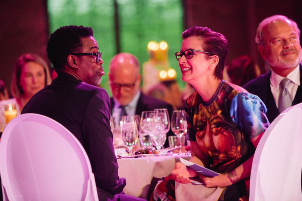
{"label": "pale dress shirt of the bald man looking down", "polygon": [[[140,96],[140,91],[137,92],[137,94],[134,96],[134,98],[131,100],[131,102],[127,106],[124,106],[124,109],[128,116],[135,115],[135,109],[136,109],[136,105],[137,105],[139,96]],[[113,101],[114,101],[114,107],[112,109],[112,119],[114,122],[114,128],[117,128],[117,126],[120,125],[119,119],[120,119],[120,114],[121,114],[122,109],[120,108],[121,105],[118,103],[118,101],[114,97],[113,97]]]}

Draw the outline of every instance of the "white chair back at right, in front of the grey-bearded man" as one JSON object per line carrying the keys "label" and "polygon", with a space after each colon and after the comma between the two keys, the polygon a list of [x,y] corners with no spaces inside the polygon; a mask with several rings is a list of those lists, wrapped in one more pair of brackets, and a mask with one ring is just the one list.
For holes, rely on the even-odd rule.
{"label": "white chair back at right, in front of the grey-bearded man", "polygon": [[255,151],[252,200],[302,200],[302,104],[281,113],[268,127]]}

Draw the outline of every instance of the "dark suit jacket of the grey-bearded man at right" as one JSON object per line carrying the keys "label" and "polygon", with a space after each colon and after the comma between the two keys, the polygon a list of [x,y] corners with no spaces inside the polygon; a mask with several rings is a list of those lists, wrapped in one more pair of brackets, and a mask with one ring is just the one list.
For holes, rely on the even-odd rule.
{"label": "dark suit jacket of the grey-bearded man at right", "polygon": [[[302,72],[301,64],[300,64],[300,72]],[[278,117],[278,115],[280,113],[277,109],[273,94],[271,92],[270,76],[271,76],[271,71],[257,77],[256,79],[249,81],[248,83],[246,83],[243,86],[243,88],[245,88],[250,93],[258,95],[261,98],[261,100],[263,101],[263,103],[265,104],[265,106],[267,108],[266,116],[267,116],[269,122],[272,123],[274,121],[274,119],[276,117]],[[302,77],[300,76],[300,84],[302,84],[301,78]],[[294,96],[292,105],[294,106],[299,103],[302,103],[302,86],[301,85],[298,86],[298,88],[297,88],[297,92]]]}

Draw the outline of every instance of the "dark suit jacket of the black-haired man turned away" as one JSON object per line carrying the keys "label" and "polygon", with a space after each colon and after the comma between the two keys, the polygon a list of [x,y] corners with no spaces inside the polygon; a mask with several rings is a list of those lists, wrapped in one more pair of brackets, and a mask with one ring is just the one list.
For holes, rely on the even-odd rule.
{"label": "dark suit jacket of the black-haired man turned away", "polygon": [[[126,181],[118,177],[107,91],[58,73],[50,85],[29,100],[24,113],[44,115],[66,127],[86,150],[97,187],[110,194],[122,192]],[[104,200],[103,191],[98,190],[100,200]]]}

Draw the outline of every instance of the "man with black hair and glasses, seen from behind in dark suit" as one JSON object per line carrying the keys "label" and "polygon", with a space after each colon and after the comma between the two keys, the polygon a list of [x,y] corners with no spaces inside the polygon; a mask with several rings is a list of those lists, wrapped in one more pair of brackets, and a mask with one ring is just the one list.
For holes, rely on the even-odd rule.
{"label": "man with black hair and glasses, seen from behind in dark suit", "polygon": [[91,28],[66,26],[51,34],[47,53],[58,76],[29,100],[22,114],[50,117],[77,137],[89,157],[99,200],[142,200],[125,195],[125,178],[118,176],[109,95],[95,86],[104,75],[98,50]]}

